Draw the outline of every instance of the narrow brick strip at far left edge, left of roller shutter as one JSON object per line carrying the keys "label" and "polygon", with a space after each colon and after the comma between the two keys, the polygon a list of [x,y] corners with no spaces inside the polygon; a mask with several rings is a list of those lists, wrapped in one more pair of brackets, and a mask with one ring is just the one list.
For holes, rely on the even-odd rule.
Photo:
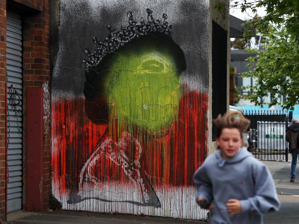
{"label": "narrow brick strip at far left edge, left of roller shutter", "polygon": [[0,0],[0,217],[5,214],[6,0]]}

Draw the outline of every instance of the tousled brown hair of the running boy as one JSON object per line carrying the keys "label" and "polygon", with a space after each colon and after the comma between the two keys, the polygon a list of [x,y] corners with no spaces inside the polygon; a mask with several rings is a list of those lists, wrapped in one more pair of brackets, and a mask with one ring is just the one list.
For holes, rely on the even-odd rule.
{"label": "tousled brown hair of the running boy", "polygon": [[228,111],[223,116],[218,115],[213,119],[213,124],[216,128],[216,138],[219,138],[224,128],[237,128],[240,131],[241,139],[242,133],[248,130],[250,120],[245,118],[242,113],[238,111]]}

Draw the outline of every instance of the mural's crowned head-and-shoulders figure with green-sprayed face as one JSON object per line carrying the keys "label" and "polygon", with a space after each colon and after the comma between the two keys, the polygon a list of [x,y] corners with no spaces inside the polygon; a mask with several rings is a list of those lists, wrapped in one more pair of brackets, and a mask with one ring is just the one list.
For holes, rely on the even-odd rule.
{"label": "mural's crowned head-and-shoulders figure with green-sprayed face", "polygon": [[153,19],[152,10],[147,13],[147,23],[136,22],[129,12],[126,29],[115,31],[108,26],[108,37],[103,42],[95,39],[98,51],[89,54],[89,61],[85,59],[86,112],[91,121],[107,122],[108,127],[81,170],[80,186],[88,183],[90,189],[90,184],[101,185],[103,174],[95,173],[101,160],[109,158],[122,171],[117,177],[103,176],[118,184],[134,185],[135,200],[93,192],[92,196],[71,195],[69,202],[94,198],[161,207],[141,164],[145,153],[152,154],[148,143],[164,136],[177,121],[183,91],[179,76],[186,62],[183,51],[171,39],[167,15],[161,22]]}

